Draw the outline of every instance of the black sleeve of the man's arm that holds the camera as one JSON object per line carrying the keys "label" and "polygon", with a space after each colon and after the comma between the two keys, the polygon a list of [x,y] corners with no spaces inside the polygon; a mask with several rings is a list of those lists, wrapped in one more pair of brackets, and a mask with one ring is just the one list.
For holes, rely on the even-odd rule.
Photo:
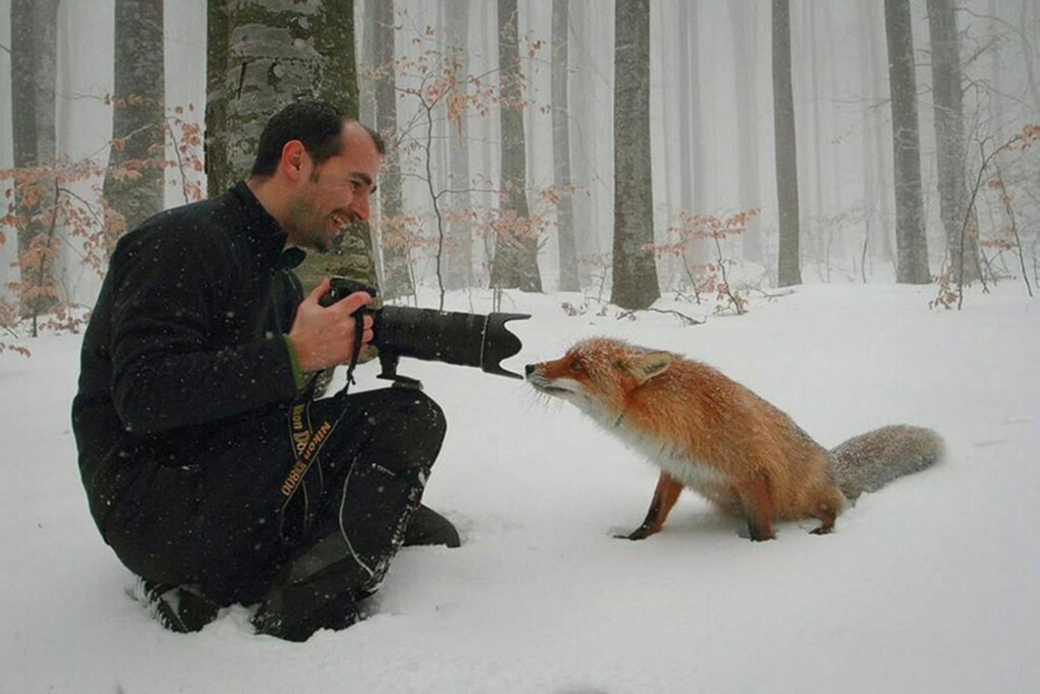
{"label": "black sleeve of the man's arm that holds the camera", "polygon": [[[189,230],[190,231],[190,230]],[[222,337],[236,320],[241,269],[205,235],[164,229],[120,246],[112,285],[112,400],[146,435],[235,417],[296,393],[282,336]]]}

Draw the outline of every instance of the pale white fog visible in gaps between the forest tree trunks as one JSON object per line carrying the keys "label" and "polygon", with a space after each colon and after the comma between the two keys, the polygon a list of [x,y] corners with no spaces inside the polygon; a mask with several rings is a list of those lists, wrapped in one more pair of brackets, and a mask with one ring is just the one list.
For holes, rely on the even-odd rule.
{"label": "pale white fog visible in gaps between the forest tree trunks", "polygon": [[[371,90],[363,79],[366,68],[365,7],[355,2],[362,116]],[[447,2],[398,0],[394,3],[398,57],[436,49],[445,35]],[[978,166],[978,142],[989,138],[990,149],[1024,125],[1040,122],[1037,87],[1036,36],[1040,9],[1036,0],[977,0],[959,2],[964,85],[964,128],[967,149],[965,178]],[[614,211],[614,14],[613,3],[571,0],[570,15],[570,127],[571,169],[576,185],[574,224],[582,290],[599,291],[609,261]],[[931,100],[929,26],[924,0],[911,2],[916,56],[921,180],[929,237],[930,267],[939,273],[945,238],[939,222],[935,136]],[[888,72],[883,3],[791,2],[791,58],[801,216],[802,277],[805,282],[889,282],[894,276],[890,247],[894,244],[892,135],[888,103]],[[10,0],[0,0],[0,45],[10,46]],[[203,121],[206,83],[206,5],[201,0],[165,3],[166,109],[188,110],[185,119]],[[496,79],[497,18],[495,4],[469,4],[468,64],[463,73]],[[553,228],[555,209],[539,191],[552,185],[552,139],[549,89],[551,3],[519,2],[520,53],[528,79],[524,113],[527,150],[528,201],[532,215],[546,219],[539,268],[544,288],[556,287],[558,257]],[[111,109],[104,97],[112,91],[112,0],[62,0],[58,9],[58,86],[56,100],[57,152],[73,160],[93,157],[104,165],[111,136]],[[738,39],[734,28],[743,33]],[[428,27],[428,28],[427,28]],[[651,2],[651,152],[653,167],[653,225],[664,242],[680,210],[700,214],[732,214],[760,208],[749,234],[762,235],[761,262],[740,262],[739,239],[729,240],[726,256],[733,271],[749,286],[776,284],[777,194],[773,140],[771,80],[771,6],[768,2]],[[528,55],[529,52],[529,55]],[[738,65],[744,64],[744,79]],[[749,78],[750,77],[750,82]],[[408,83],[404,71],[398,85]],[[369,85],[370,86],[370,85]],[[738,102],[738,98],[743,101]],[[738,107],[739,103],[739,107]],[[11,165],[10,54],[0,51],[0,168]],[[751,129],[742,130],[738,114]],[[397,122],[413,122],[414,104],[397,99]],[[450,138],[443,112],[438,118],[434,150],[435,177],[442,177],[441,154]],[[472,188],[488,189],[482,181],[499,177],[498,118],[494,112],[464,115],[469,144]],[[690,151],[679,146],[682,129],[693,131]],[[738,177],[737,153],[752,146],[755,170]],[[438,150],[438,148],[440,148]],[[683,160],[690,174],[683,175]],[[1032,170],[1036,176],[1036,158]],[[405,206],[409,212],[428,213],[423,185],[409,178],[418,166],[402,156]],[[692,177],[693,180],[688,180]],[[166,172],[167,206],[184,202],[176,171]],[[755,180],[757,179],[757,180]],[[970,183],[970,182],[969,182]],[[4,189],[10,182],[2,181]],[[83,184],[89,190],[87,184]],[[474,194],[474,205],[494,207],[493,193]],[[1019,197],[1022,244],[1035,244],[1037,195]],[[980,225],[996,229],[1003,207],[992,196],[980,199]],[[378,225],[378,210],[373,222]],[[866,225],[872,242],[867,267],[859,267]],[[431,233],[431,224],[423,225]],[[16,244],[8,231],[0,246],[0,279],[12,276]],[[93,303],[100,278],[77,267],[75,244],[63,249],[62,285],[79,301]],[[478,248],[486,244],[477,243]],[[886,248],[885,246],[888,246]],[[598,259],[598,260],[597,260]],[[604,269],[605,265],[605,269]],[[431,281],[428,253],[417,253],[415,271],[420,284]],[[1034,269],[1035,272],[1035,269]],[[674,262],[658,263],[661,291],[678,288],[681,272]],[[608,279],[608,277],[607,277]],[[475,282],[487,286],[479,274]],[[608,284],[608,283],[607,283]]]}

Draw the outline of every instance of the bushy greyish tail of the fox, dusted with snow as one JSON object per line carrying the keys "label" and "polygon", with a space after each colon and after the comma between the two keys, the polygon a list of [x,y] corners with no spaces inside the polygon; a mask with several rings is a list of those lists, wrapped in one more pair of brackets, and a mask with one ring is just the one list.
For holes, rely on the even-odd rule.
{"label": "bushy greyish tail of the fox, dusted with snow", "polygon": [[895,424],[853,436],[831,449],[838,488],[851,501],[942,459],[945,444],[931,429]]}

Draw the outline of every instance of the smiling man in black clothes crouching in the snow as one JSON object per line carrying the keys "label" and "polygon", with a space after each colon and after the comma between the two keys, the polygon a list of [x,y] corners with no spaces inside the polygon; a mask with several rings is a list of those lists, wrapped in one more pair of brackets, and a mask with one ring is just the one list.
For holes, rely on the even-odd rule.
{"label": "smiling man in black clothes crouching in the snow", "polygon": [[356,313],[371,297],[322,306],[329,281],[304,298],[291,268],[367,219],[382,154],[331,106],[290,105],[248,182],[156,215],[112,253],[73,428],[95,522],[171,629],[259,603],[258,632],[305,640],[354,623],[402,543],[459,543],[419,505],[445,432],[436,403],[305,395],[372,339]]}

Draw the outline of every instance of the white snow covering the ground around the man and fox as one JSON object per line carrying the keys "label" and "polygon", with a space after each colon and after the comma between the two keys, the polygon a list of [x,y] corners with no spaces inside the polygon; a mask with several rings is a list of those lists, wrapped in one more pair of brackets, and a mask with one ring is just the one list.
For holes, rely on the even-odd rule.
{"label": "white snow covering the ground around the man and fox", "polygon": [[[22,341],[30,358],[0,355],[0,691],[1040,691],[1040,309],[1010,283],[961,312],[929,310],[934,291],[806,286],[692,327],[510,293],[504,311],[534,315],[509,324],[511,370],[626,338],[711,364],[826,446],[907,422],[939,430],[947,460],[829,536],[780,524],[753,543],[687,492],[660,534],[619,540],[649,505],[646,461],[520,380],[404,359],[448,417],[425,501],[464,544],[402,551],[366,621],[303,644],[255,635],[243,607],[173,634],[128,596],[78,479],[79,338]],[[480,292],[448,308],[470,302],[490,310]]]}

